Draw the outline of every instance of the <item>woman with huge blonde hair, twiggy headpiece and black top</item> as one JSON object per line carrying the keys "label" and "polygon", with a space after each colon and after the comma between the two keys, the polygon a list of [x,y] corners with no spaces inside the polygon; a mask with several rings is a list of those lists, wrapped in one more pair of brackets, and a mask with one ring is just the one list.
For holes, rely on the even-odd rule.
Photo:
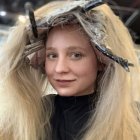
{"label": "woman with huge blonde hair, twiggy headpiece and black top", "polygon": [[138,140],[138,58],[119,18],[101,1],[52,2],[35,17],[1,51],[0,139]]}

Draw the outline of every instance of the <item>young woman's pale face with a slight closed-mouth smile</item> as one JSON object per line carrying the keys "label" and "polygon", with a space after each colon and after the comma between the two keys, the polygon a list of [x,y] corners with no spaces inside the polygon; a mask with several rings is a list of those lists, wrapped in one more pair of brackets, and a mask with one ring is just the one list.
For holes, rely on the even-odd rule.
{"label": "young woman's pale face with a slight closed-mouth smile", "polygon": [[77,27],[55,27],[46,42],[46,74],[61,96],[87,95],[95,89],[97,59]]}

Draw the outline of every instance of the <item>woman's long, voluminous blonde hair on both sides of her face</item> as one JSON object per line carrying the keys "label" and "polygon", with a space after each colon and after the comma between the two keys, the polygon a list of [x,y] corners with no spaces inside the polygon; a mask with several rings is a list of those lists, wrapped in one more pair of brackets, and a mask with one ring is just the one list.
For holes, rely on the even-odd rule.
{"label": "woman's long, voluminous blonde hair on both sides of her face", "polygon": [[[41,18],[51,8],[58,8],[59,5],[59,2],[53,2],[38,10],[36,16]],[[138,140],[139,64],[132,39],[123,23],[107,5],[99,6],[92,12],[99,17],[97,21],[105,26],[105,43],[115,54],[127,58],[135,67],[128,73],[117,63],[107,66],[100,80],[96,110],[91,115],[87,124],[88,129],[81,139]],[[75,16],[92,38],[90,28],[86,25],[88,22],[77,13]],[[47,79],[21,60],[27,38],[25,25],[17,25],[12,29],[0,52],[0,140],[51,139],[52,103],[49,96],[45,100],[45,105],[42,100],[42,96],[46,94]]]}

